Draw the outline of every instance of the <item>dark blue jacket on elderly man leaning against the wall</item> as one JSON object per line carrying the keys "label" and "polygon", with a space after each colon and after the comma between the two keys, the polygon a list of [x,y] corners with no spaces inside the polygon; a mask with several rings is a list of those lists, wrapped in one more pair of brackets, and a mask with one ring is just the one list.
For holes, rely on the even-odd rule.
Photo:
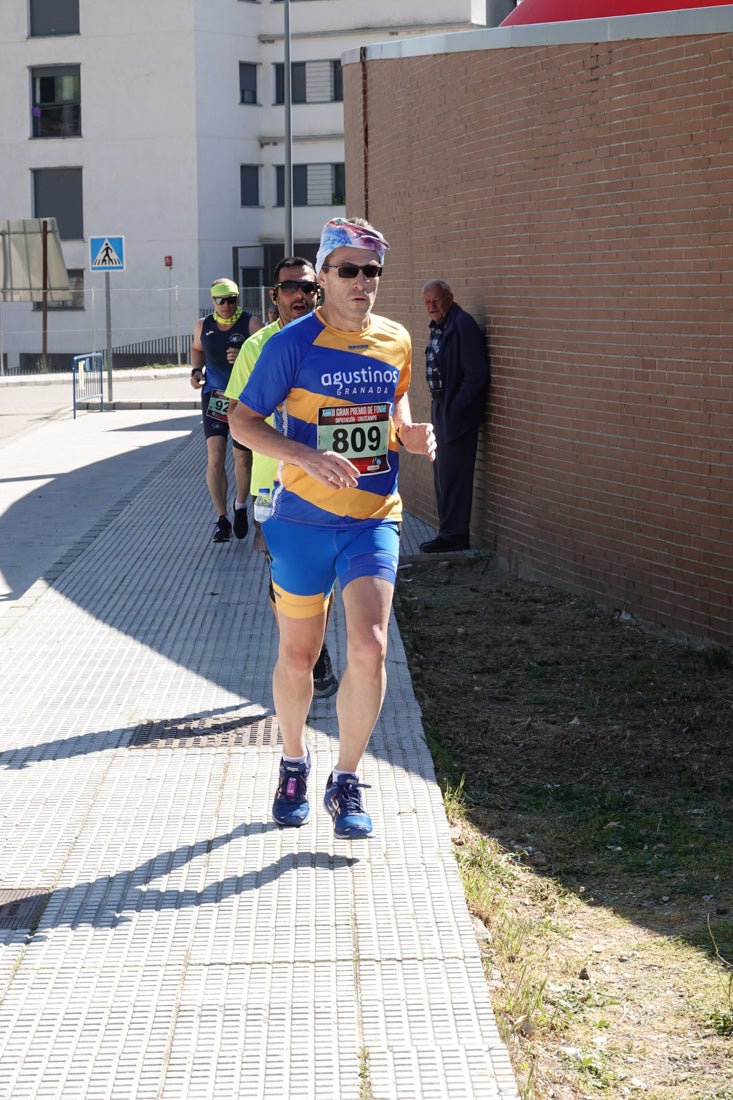
{"label": "dark blue jacket on elderly man leaning against the wall", "polygon": [[442,396],[433,402],[435,436],[451,443],[483,419],[489,383],[489,359],[481,329],[470,314],[453,302],[440,343]]}

